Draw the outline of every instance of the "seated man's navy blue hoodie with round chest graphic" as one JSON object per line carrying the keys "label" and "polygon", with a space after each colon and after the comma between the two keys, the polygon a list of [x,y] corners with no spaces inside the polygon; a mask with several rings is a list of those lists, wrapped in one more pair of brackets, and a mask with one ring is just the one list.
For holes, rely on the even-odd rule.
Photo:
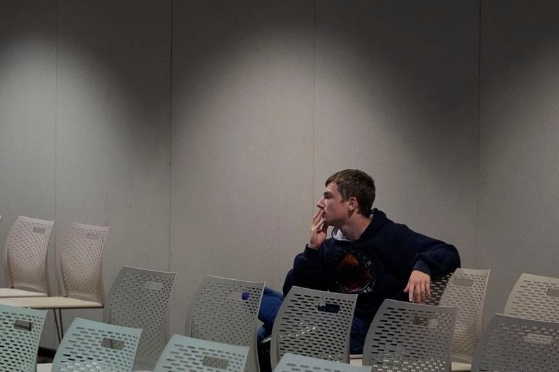
{"label": "seated man's navy blue hoodie with round chest graphic", "polygon": [[291,285],[357,293],[355,316],[370,321],[384,299],[407,301],[403,292],[412,270],[437,278],[460,267],[454,246],[394,223],[378,209],[356,241],[332,232],[319,249],[305,247],[293,262]]}

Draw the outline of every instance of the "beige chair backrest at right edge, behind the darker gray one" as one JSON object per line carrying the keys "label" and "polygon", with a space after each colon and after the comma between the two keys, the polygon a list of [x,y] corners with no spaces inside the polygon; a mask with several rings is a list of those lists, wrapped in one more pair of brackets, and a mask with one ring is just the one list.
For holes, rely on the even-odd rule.
{"label": "beige chair backrest at right edge, behind the darker gray one", "polygon": [[522,274],[507,299],[504,315],[559,322],[559,278]]}

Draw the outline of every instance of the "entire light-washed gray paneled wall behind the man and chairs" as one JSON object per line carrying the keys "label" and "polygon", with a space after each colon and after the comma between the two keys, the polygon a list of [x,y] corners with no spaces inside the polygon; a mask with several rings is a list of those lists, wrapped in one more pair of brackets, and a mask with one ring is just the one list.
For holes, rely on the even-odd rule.
{"label": "entire light-washed gray paneled wall behind the man and chairs", "polygon": [[106,289],[178,271],[180,333],[205,274],[281,285],[324,179],[361,168],[493,269],[500,311],[556,259],[556,10],[525,8],[482,3],[480,38],[477,1],[0,0],[0,239],[55,219],[54,257],[69,222],[110,225]]}

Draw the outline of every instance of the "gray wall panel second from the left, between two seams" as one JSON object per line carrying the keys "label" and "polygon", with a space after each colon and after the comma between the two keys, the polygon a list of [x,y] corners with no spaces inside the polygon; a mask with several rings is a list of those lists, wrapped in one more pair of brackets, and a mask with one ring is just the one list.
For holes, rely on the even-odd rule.
{"label": "gray wall panel second from the left, between two seams", "polygon": [[106,290],[122,265],[169,266],[170,12],[59,1],[57,246],[72,221],[109,225]]}

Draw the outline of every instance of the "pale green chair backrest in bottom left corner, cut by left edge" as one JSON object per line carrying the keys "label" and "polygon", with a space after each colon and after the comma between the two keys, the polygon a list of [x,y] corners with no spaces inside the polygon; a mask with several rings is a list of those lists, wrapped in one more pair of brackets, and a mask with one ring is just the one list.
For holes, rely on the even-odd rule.
{"label": "pale green chair backrest in bottom left corner, cut by left edge", "polygon": [[46,310],[0,305],[0,371],[35,372]]}

